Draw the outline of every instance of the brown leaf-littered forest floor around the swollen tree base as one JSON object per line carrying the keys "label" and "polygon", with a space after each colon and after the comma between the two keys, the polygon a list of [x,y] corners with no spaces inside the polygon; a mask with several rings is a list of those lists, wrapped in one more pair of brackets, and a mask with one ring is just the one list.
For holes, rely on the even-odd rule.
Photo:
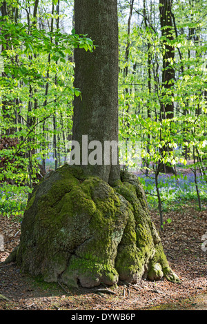
{"label": "brown leaf-littered forest floor around the swollen tree base", "polygon": [[[159,230],[157,211],[151,211],[151,215]],[[160,236],[181,283],[141,279],[136,285],[121,282],[103,287],[110,293],[44,283],[21,274],[15,263],[4,265],[2,262],[19,243],[21,228],[12,217],[1,216],[4,251],[0,252],[0,310],[207,310],[207,252],[201,248],[201,237],[207,234],[207,205],[199,211],[195,201],[188,201],[179,210],[166,212],[164,220],[169,218],[172,221],[166,222]]]}

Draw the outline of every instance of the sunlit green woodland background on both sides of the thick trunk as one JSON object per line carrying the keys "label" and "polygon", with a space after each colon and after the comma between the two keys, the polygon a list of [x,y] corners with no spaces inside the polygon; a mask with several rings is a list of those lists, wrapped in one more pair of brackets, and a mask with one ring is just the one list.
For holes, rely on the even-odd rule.
{"label": "sunlit green woodland background on both sides of the thick trunk", "polygon": [[[207,201],[207,1],[118,3],[120,164],[162,222]],[[73,1],[0,8],[0,214],[21,219],[28,192],[70,158],[73,50],[99,44],[76,34]]]}

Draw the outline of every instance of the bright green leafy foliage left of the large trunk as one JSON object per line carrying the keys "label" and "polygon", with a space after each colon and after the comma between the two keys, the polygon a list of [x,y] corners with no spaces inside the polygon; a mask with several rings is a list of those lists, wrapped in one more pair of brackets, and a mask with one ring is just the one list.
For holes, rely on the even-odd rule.
{"label": "bright green leafy foliage left of the large trunk", "polygon": [[[79,36],[75,30],[71,34],[39,30],[8,16],[0,17],[0,29],[1,141],[17,139],[15,145],[0,150],[0,181],[31,187],[37,181],[39,159],[50,152],[52,137],[61,139],[56,150],[66,152],[61,134],[72,128],[71,103],[80,95],[72,84],[73,49],[92,52],[94,46],[87,35]],[[54,117],[55,129],[51,127]]]}

